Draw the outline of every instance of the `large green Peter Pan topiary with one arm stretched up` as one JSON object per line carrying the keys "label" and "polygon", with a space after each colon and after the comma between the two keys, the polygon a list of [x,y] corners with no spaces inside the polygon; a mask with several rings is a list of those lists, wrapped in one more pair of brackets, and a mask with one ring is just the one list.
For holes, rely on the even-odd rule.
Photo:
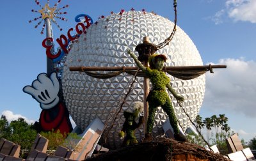
{"label": "large green Peter Pan topiary with one arm stretched up", "polygon": [[174,137],[177,141],[186,141],[186,138],[179,134],[178,122],[175,117],[175,113],[172,107],[171,99],[166,93],[166,88],[172,93],[172,95],[179,101],[183,102],[184,98],[177,95],[175,90],[170,85],[170,79],[162,72],[164,62],[166,61],[166,56],[163,54],[153,54],[148,58],[148,63],[150,68],[143,66],[134,53],[128,50],[128,54],[134,59],[136,65],[146,73],[147,77],[150,79],[152,84],[152,89],[147,96],[148,102],[148,121],[147,121],[147,134],[145,134],[145,139],[152,139],[152,128],[154,125],[154,117],[157,107],[161,106],[169,116],[170,124],[173,127]]}

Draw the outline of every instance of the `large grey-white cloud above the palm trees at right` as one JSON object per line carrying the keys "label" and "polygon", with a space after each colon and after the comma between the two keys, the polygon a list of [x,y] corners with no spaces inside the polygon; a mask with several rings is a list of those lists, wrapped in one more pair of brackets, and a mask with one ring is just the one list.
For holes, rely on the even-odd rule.
{"label": "large grey-white cloud above the palm trees at right", "polygon": [[221,59],[218,64],[227,69],[206,74],[204,108],[255,117],[256,62],[240,58]]}

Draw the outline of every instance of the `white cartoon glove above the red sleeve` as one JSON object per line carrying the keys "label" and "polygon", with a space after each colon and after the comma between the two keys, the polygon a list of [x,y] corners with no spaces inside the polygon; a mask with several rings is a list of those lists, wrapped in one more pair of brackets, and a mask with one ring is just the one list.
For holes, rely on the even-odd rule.
{"label": "white cartoon glove above the red sleeve", "polygon": [[23,91],[33,96],[40,103],[42,109],[51,109],[60,101],[58,96],[60,83],[56,72],[51,73],[50,78],[46,73],[40,73],[32,86],[25,86]]}

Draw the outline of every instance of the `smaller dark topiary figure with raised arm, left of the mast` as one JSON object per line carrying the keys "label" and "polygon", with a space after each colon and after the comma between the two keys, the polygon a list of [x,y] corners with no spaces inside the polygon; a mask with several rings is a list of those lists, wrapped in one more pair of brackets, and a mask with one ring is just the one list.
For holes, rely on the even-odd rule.
{"label": "smaller dark topiary figure with raised arm, left of the mast", "polygon": [[134,103],[134,112],[124,111],[125,122],[122,131],[119,133],[121,138],[124,137],[126,133],[122,146],[136,144],[138,142],[134,131],[143,123],[144,116],[140,116],[138,123],[136,123],[135,119],[138,118],[141,111],[143,111],[143,103],[141,102]]}

